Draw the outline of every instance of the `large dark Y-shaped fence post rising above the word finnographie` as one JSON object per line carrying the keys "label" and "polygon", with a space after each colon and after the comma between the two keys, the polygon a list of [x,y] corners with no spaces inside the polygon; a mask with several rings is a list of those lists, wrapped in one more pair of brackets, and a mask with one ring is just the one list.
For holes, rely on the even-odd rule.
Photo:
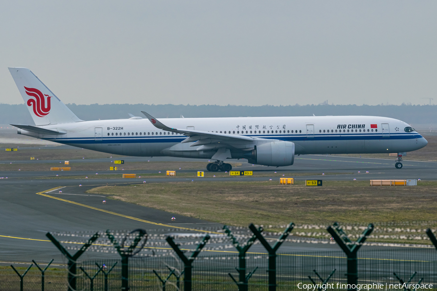
{"label": "large dark Y-shaped fence post rising above the word finnographie", "polygon": [[[369,224],[369,226],[367,226],[367,229],[363,231],[363,234],[356,242],[351,242],[346,233],[344,233],[337,223],[334,224],[334,226],[336,226],[336,230],[341,237],[331,226],[328,226],[326,230],[328,230],[328,232],[332,235],[332,237],[336,240],[340,248],[348,257],[348,273],[346,273],[346,275],[348,276],[348,284],[351,287],[348,288],[348,290],[356,290],[356,284],[358,283],[358,261],[356,253],[373,231],[373,224]],[[355,286],[355,288],[353,288],[353,286]]]}

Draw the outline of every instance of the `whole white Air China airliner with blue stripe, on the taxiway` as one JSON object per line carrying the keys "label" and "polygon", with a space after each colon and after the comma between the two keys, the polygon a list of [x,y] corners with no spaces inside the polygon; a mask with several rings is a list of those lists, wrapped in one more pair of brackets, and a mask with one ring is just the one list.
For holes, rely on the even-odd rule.
{"label": "whole white Air China airliner with blue stripe, on the taxiway", "polygon": [[27,68],[10,67],[35,125],[18,134],[126,156],[210,159],[208,171],[230,171],[227,159],[289,166],[295,155],[398,153],[428,142],[401,120],[378,116],[166,118],[83,121]]}

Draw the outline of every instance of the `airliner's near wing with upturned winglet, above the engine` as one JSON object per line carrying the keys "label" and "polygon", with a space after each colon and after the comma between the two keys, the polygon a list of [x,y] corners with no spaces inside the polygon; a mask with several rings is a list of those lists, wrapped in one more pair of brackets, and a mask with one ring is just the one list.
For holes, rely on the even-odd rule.
{"label": "airliner's near wing with upturned winglet, above the engine", "polygon": [[207,144],[215,144],[219,143],[221,141],[226,141],[227,143],[231,144],[233,142],[252,142],[254,138],[250,136],[244,136],[244,135],[236,135],[236,134],[224,134],[224,133],[218,133],[218,132],[209,132],[209,131],[201,131],[201,130],[188,130],[188,129],[174,129],[169,128],[168,126],[164,125],[162,122],[151,116],[149,113],[146,113],[142,111],[144,115],[150,120],[151,124],[153,124],[154,127],[166,131],[172,131],[177,132],[180,134],[184,134],[188,136],[185,140],[183,140],[181,143],[190,143],[195,142],[191,146],[202,146]]}

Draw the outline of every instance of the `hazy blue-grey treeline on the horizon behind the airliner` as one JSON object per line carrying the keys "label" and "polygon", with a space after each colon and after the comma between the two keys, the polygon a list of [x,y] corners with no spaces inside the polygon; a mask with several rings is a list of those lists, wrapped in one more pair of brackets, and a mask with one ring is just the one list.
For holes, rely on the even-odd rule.
{"label": "hazy blue-grey treeline on the horizon behind the airliner", "polygon": [[[292,106],[218,106],[218,105],[148,105],[148,104],[67,104],[80,119],[129,118],[128,113],[144,117],[146,111],[157,118],[238,117],[238,116],[312,116],[375,115],[401,119],[411,125],[437,124],[437,105],[292,105]],[[24,104],[0,104],[0,124],[34,124]]]}

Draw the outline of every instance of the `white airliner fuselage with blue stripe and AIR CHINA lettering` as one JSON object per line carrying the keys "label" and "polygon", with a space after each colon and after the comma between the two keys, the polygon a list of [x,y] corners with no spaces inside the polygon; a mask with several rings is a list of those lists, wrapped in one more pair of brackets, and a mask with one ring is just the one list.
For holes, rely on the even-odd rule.
{"label": "white airliner fuselage with blue stripe and AIR CHINA lettering", "polygon": [[[245,135],[257,142],[282,140],[295,143],[295,154],[398,153],[428,143],[417,131],[406,132],[403,121],[377,116],[226,117],[161,119],[168,127]],[[72,122],[40,128],[67,132],[45,135],[19,129],[19,133],[127,156],[211,158],[215,151],[197,150],[186,136],[155,128],[148,119],[114,119]],[[251,145],[248,145],[250,147]],[[243,158],[244,149],[231,150]]]}

